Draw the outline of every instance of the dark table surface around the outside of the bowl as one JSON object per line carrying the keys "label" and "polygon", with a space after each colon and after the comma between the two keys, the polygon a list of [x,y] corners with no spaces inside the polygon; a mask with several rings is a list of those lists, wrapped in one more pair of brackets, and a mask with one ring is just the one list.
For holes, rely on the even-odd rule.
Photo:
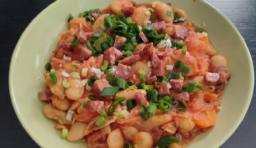
{"label": "dark table surface around the outside of the bowl", "polygon": [[[256,61],[256,1],[255,0],[207,0],[217,7],[238,28],[245,38],[253,63]],[[8,89],[8,73],[11,54],[20,35],[42,9],[53,0],[0,0],[0,143],[1,147],[38,147],[24,131],[11,106]],[[256,147],[255,93],[251,106],[234,135],[222,147]]]}

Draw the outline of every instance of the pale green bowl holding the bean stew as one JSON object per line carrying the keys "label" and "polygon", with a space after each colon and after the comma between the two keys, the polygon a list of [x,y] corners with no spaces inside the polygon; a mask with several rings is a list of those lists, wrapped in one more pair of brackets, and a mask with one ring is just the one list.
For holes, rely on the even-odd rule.
{"label": "pale green bowl holding the bean stew", "polygon": [[[152,2],[150,0],[137,3]],[[222,98],[216,126],[196,137],[188,147],[220,147],[236,131],[251,102],[254,87],[253,62],[241,34],[220,11],[205,1],[165,1],[184,9],[195,25],[207,30],[214,46],[232,71]],[[9,90],[11,102],[22,126],[40,147],[85,147],[60,138],[52,120],[42,114],[44,103],[37,93],[44,87],[44,64],[67,29],[67,15],[92,8],[104,8],[110,1],[59,0],[49,5],[26,28],[11,59]]]}

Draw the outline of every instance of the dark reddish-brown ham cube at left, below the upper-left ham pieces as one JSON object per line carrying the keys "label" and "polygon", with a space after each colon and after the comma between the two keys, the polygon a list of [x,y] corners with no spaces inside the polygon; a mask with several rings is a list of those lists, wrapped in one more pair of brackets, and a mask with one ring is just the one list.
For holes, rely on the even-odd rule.
{"label": "dark reddish-brown ham cube at left, below the upper-left ham pieces", "polygon": [[89,59],[91,56],[92,56],[92,51],[84,46],[78,45],[74,48],[73,60],[84,61]]}

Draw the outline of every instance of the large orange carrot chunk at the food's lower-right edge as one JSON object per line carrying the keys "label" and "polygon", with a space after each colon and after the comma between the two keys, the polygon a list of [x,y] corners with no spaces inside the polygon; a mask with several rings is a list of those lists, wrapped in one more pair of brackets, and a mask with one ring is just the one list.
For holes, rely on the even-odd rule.
{"label": "large orange carrot chunk at the food's lower-right edge", "polygon": [[200,128],[209,128],[216,123],[216,111],[206,110],[204,112],[197,112],[193,116],[193,121]]}

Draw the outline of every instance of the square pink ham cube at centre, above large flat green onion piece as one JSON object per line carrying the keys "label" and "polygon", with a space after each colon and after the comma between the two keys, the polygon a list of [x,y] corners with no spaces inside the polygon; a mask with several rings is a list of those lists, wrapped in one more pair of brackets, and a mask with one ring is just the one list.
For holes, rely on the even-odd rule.
{"label": "square pink ham cube at centre, above large flat green onion piece", "polygon": [[117,72],[116,72],[116,77],[119,77],[121,79],[129,79],[131,74],[131,67],[127,66],[127,65],[123,65],[121,63],[119,63],[119,65],[117,65]]}

